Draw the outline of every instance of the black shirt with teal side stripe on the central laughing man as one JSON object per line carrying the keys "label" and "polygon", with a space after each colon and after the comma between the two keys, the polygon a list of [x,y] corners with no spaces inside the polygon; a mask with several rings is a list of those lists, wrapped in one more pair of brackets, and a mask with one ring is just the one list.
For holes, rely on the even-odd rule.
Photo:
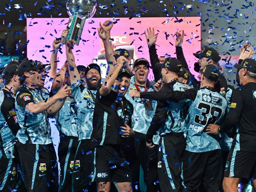
{"label": "black shirt with teal side stripe on the central laughing man", "polygon": [[134,108],[125,97],[119,97],[117,92],[111,90],[109,94],[101,96],[96,94],[93,113],[93,131],[91,139],[99,145],[123,144],[121,126],[124,122],[132,127],[132,113]]}

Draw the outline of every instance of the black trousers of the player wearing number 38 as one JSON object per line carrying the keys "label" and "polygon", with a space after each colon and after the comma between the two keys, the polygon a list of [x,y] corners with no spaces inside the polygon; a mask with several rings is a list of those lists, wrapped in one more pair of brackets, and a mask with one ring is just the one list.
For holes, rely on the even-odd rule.
{"label": "black trousers of the player wearing number 38", "polygon": [[221,186],[221,150],[201,153],[184,151],[183,178],[187,192],[219,192]]}

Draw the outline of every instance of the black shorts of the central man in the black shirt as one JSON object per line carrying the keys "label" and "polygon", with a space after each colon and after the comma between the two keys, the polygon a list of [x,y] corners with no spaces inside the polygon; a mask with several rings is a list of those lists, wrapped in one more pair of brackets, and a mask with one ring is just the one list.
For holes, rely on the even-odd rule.
{"label": "black shorts of the central man in the black shirt", "polygon": [[131,182],[128,161],[120,145],[96,148],[96,182]]}

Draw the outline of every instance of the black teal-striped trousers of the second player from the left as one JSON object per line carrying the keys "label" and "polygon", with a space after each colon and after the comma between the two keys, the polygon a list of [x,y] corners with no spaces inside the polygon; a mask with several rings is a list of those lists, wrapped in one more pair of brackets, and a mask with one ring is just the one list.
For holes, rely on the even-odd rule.
{"label": "black teal-striped trousers of the second player from the left", "polygon": [[28,192],[58,191],[58,162],[53,144],[22,144],[18,141],[15,147]]}

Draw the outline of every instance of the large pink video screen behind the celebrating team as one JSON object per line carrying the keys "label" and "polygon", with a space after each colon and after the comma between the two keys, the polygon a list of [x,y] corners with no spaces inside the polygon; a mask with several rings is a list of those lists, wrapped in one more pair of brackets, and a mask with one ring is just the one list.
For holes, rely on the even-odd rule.
{"label": "large pink video screen behind the celebrating team", "polygon": [[[52,42],[59,38],[61,31],[66,29],[69,18],[27,18],[27,55],[29,59],[49,63],[52,54]],[[126,48],[132,59],[144,57],[149,61],[147,41],[144,35],[148,27],[155,28],[158,33],[156,42],[158,56],[168,55],[176,57],[175,39],[176,31],[185,31],[182,45],[186,60],[191,66],[197,60],[192,53],[200,51],[200,17],[150,17],[150,18],[91,18],[85,22],[82,40],[79,46],[74,46],[76,65],[89,65],[97,62],[106,74],[104,59],[104,46],[98,37],[99,23],[110,19],[114,22],[111,30],[111,39],[116,48]],[[58,53],[58,68],[66,60],[65,47]],[[154,79],[152,70],[149,79]]]}

